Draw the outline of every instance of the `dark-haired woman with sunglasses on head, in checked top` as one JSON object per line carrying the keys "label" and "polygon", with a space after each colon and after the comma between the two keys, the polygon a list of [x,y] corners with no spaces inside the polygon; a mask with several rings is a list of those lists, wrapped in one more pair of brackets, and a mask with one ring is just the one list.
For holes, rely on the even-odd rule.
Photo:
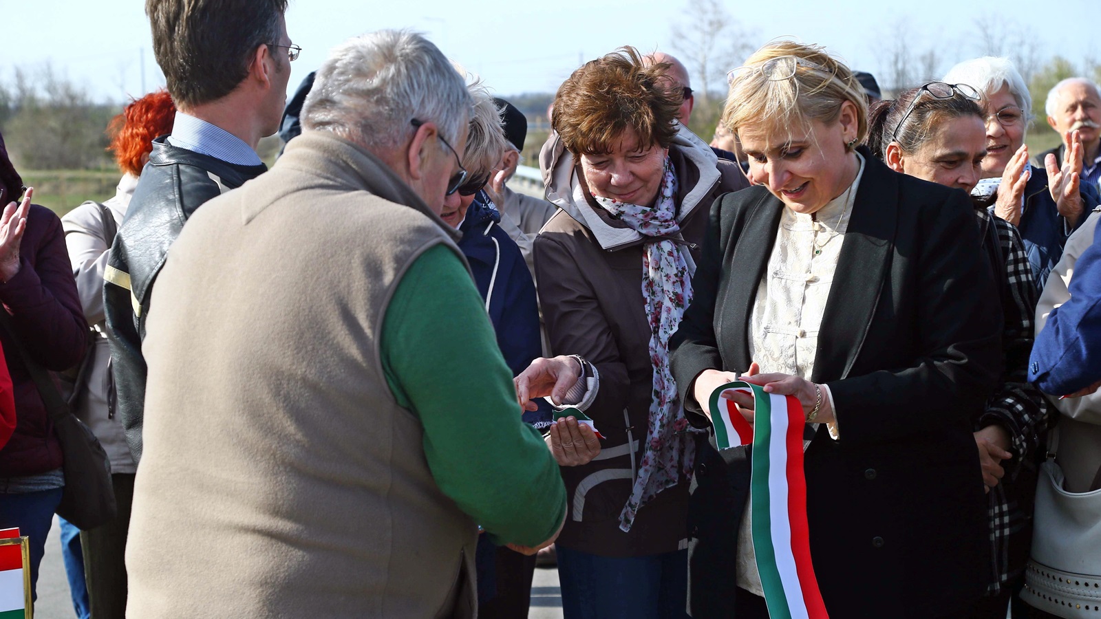
{"label": "dark-haired woman with sunglasses on head, in checked top", "polygon": [[[970,194],[986,156],[979,93],[964,84],[931,82],[872,107],[872,152],[895,172]],[[989,202],[989,200],[985,200]],[[1024,585],[1032,540],[1036,471],[1027,465],[1047,421],[1047,400],[1028,382],[1034,340],[1036,285],[1021,235],[974,199],[981,250],[993,265],[1002,307],[1002,376],[972,417],[990,521],[991,568],[986,596],[969,617],[1004,619],[1010,599]],[[1022,463],[1026,463],[1022,466]]]}

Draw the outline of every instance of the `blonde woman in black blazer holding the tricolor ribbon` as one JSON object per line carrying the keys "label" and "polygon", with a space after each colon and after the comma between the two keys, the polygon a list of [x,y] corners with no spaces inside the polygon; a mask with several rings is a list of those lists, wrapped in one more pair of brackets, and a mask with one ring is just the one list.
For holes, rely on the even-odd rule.
{"label": "blonde woman in black blazer holding the tricolor ribbon", "polygon": [[[1001,363],[971,205],[858,146],[863,88],[821,47],[773,43],[730,77],[722,122],[755,186],[711,208],[696,298],[671,345],[673,377],[697,427],[711,427],[711,394],[739,376],[794,397],[787,413],[806,424],[804,441],[765,456],[719,450],[713,436],[701,447],[690,607],[763,618],[796,599],[809,612],[817,596],[811,617],[963,616],[986,584],[971,420]],[[754,422],[754,399],[724,397]],[[805,509],[777,503],[763,492],[771,485],[755,484],[751,499],[760,464],[794,449],[804,466],[787,471],[793,488],[805,481]],[[768,507],[762,522],[757,498],[793,507]],[[777,588],[785,550],[756,543],[770,540],[768,522],[807,526],[802,591],[791,580]]]}

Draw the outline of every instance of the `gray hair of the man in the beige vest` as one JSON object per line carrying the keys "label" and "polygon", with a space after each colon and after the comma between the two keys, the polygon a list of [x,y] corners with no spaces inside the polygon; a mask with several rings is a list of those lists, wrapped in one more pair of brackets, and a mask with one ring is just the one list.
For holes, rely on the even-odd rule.
{"label": "gray hair of the man in the beige vest", "polygon": [[397,148],[417,119],[435,122],[454,144],[470,108],[462,77],[435,45],[407,30],[380,30],[333,50],[303,104],[302,126],[381,151]]}

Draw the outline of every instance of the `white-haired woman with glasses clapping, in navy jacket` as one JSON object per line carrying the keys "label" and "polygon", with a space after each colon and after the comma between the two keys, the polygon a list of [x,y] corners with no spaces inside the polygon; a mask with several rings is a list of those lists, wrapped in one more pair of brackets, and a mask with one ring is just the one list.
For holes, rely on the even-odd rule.
{"label": "white-haired woman with glasses clapping, in navy jacket", "polygon": [[982,160],[983,178],[973,192],[996,195],[994,215],[1021,230],[1038,293],[1062,256],[1067,237],[1101,202],[1094,187],[1079,182],[1081,141],[1066,135],[1072,148],[1061,169],[1054,155],[1044,167],[1028,163],[1024,141],[1032,120],[1032,96],[1007,58],[985,56],[959,63],[944,82],[968,84],[982,96],[986,156]]}

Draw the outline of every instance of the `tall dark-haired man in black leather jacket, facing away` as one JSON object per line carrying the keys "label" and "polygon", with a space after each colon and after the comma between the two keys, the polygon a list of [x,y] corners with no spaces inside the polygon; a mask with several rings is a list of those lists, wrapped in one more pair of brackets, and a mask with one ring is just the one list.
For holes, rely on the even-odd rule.
{"label": "tall dark-haired man in black leather jacket, facing away", "polygon": [[103,275],[115,410],[141,458],[145,319],[156,275],[203,203],[264,172],[260,139],[279,128],[291,61],[286,0],[146,0],[153,51],[177,115],[153,141]]}

